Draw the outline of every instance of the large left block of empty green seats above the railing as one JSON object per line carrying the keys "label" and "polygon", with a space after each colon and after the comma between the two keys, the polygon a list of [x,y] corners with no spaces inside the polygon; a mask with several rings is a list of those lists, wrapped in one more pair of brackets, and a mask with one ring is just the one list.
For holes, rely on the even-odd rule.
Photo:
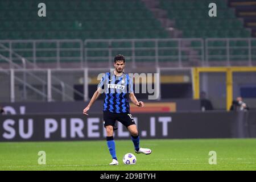
{"label": "large left block of empty green seats above the railing", "polygon": [[0,1],[0,39],[167,38],[142,1]]}

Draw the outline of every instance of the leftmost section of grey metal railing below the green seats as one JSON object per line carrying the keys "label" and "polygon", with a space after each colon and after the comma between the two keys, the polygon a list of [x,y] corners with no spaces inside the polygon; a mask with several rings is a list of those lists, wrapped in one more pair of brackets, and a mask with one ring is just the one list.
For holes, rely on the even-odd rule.
{"label": "leftmost section of grey metal railing below the green seats", "polygon": [[19,55],[26,57],[32,68],[38,68],[40,63],[55,64],[61,68],[61,63],[76,62],[83,65],[82,40],[0,40],[5,48],[0,48],[0,54],[8,57],[11,62],[19,63]]}

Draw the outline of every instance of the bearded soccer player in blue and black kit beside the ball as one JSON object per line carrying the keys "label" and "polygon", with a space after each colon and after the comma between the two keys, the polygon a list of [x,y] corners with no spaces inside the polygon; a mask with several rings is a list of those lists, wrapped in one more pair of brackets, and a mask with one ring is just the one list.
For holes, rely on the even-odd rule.
{"label": "bearded soccer player in blue and black kit beside the ball", "polygon": [[137,126],[134,122],[133,116],[130,114],[130,106],[127,100],[127,93],[133,104],[138,107],[144,107],[142,101],[138,101],[133,92],[133,78],[130,78],[128,74],[123,72],[125,68],[125,57],[123,55],[117,55],[114,57],[114,71],[105,73],[102,77],[100,84],[96,92],[93,94],[88,106],[85,107],[83,113],[88,115],[87,112],[97,100],[98,96],[104,91],[104,127],[106,129],[106,140],[109,148],[109,152],[112,155],[112,163],[109,165],[118,165],[117,155],[115,154],[115,142],[113,138],[115,127],[115,121],[121,122],[127,127],[131,134],[131,140],[133,141],[135,152],[137,154],[151,154],[151,150],[148,148],[139,147],[139,134]]}

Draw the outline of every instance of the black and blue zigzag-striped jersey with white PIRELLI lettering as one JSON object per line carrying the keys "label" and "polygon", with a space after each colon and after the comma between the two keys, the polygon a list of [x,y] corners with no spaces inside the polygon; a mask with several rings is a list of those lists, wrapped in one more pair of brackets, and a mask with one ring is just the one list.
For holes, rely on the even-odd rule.
{"label": "black and blue zigzag-striped jersey with white PIRELLI lettering", "polygon": [[133,93],[133,78],[123,73],[115,76],[114,72],[105,73],[98,86],[104,91],[104,111],[129,113],[130,105],[127,94]]}

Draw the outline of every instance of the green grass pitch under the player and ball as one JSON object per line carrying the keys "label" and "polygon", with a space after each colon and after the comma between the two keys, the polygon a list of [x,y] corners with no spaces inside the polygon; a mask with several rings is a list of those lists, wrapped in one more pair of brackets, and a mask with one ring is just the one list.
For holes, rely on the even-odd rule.
{"label": "green grass pitch under the player and ball", "polygon": [[[141,140],[151,155],[135,154],[131,140],[115,140],[118,166],[105,141],[3,142],[0,170],[256,170],[256,139],[157,139]],[[38,152],[46,152],[46,165],[38,164]],[[217,164],[209,164],[216,151]],[[122,157],[132,152],[137,164],[125,165]]]}

